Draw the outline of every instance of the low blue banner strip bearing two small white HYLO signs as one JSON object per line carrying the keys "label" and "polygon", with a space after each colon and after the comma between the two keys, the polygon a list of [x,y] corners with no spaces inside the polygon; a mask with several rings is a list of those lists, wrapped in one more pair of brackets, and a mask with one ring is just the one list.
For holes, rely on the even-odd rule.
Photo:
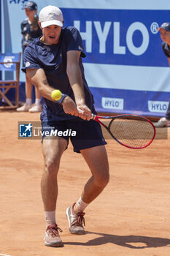
{"label": "low blue banner strip bearing two small white HYLO signs", "polygon": [[91,91],[96,95],[96,108],[100,112],[112,113],[114,110],[114,113],[164,116],[169,106],[170,93],[167,92],[101,88],[92,88]]}

